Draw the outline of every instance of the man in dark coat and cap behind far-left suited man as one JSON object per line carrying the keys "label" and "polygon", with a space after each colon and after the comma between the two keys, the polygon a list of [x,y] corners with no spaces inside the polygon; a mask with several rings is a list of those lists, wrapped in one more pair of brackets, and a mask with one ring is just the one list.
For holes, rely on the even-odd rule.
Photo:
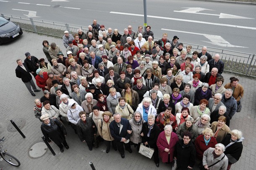
{"label": "man in dark coat and cap behind far-left suited man", "polygon": [[39,60],[37,57],[31,56],[29,52],[25,53],[26,59],[24,60],[24,63],[28,66],[29,72],[31,72],[34,77],[37,76],[37,69],[39,66]]}

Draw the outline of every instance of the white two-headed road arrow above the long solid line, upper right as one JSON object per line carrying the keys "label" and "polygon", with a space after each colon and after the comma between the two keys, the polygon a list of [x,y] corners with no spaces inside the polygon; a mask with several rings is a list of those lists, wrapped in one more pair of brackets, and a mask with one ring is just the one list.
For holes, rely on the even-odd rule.
{"label": "white two-headed road arrow above the long solid line, upper right", "polygon": [[198,13],[199,11],[203,10],[210,10],[210,9],[205,9],[205,8],[187,8],[185,10],[174,10],[174,12],[178,13],[195,13],[195,14],[201,14],[201,15],[214,15],[214,16],[219,16],[219,18],[232,18],[232,19],[254,19],[254,18],[247,18],[243,16],[238,16],[238,15],[231,15],[231,14],[226,14],[226,13],[220,13],[218,14],[212,14],[212,13]]}

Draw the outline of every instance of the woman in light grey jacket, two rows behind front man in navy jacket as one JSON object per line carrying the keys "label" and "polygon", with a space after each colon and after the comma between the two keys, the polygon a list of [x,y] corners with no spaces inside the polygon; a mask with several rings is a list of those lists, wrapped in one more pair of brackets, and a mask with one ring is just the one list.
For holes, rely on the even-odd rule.
{"label": "woman in light grey jacket, two rows behind front man in navy jacket", "polygon": [[118,99],[121,97],[119,92],[116,92],[115,88],[110,88],[110,94],[107,96],[107,108],[112,114],[115,113],[115,108],[118,106]]}

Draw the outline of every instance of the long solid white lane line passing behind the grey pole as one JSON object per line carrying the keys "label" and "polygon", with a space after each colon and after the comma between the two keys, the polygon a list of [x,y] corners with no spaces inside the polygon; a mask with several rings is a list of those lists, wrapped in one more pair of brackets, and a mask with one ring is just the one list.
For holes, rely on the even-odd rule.
{"label": "long solid white lane line passing behind the grey pole", "polygon": [[[114,12],[114,11],[111,11],[110,13],[121,14],[121,15],[142,16],[142,17],[144,16],[144,15],[141,15],[141,14],[120,13],[120,12]],[[159,18],[159,19],[174,20],[174,21],[184,21],[184,22],[191,22],[191,23],[203,23],[203,24],[209,24],[209,25],[215,25],[215,26],[227,26],[227,27],[233,27],[233,28],[243,28],[243,29],[256,30],[255,27],[236,26],[236,25],[225,24],[225,23],[211,23],[211,22],[205,22],[205,21],[186,20],[186,19],[179,19],[179,18],[169,18],[169,17],[153,16],[153,15],[147,15],[147,17],[149,17],[149,18]]]}

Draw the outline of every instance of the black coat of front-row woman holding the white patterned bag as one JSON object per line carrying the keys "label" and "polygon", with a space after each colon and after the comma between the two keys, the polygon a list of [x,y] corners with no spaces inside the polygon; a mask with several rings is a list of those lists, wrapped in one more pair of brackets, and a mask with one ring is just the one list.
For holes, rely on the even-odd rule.
{"label": "black coat of front-row woman holding the white patterned bag", "polygon": [[149,125],[147,122],[145,122],[142,126],[141,133],[144,134],[142,137],[142,142],[148,142],[149,146],[151,148],[156,148],[157,147],[157,138],[160,133],[160,128],[157,126],[157,124],[154,124],[153,128],[150,131],[149,137],[147,136],[149,132]]}

